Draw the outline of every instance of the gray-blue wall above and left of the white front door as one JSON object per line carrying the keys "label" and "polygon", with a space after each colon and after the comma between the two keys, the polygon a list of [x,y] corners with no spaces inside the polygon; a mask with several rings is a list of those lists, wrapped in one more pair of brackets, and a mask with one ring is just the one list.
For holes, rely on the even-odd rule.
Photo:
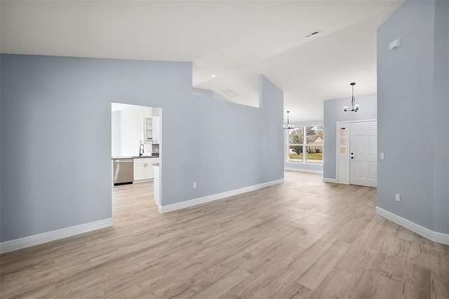
{"label": "gray-blue wall above and left of the white front door", "polygon": [[[350,83],[350,82],[349,82]],[[360,104],[358,112],[344,112],[343,107],[351,105],[351,86],[348,83],[348,97],[324,101],[324,169],[323,178],[337,178],[337,121],[358,121],[377,119],[377,94],[357,95],[357,85],[354,87],[356,102]]]}

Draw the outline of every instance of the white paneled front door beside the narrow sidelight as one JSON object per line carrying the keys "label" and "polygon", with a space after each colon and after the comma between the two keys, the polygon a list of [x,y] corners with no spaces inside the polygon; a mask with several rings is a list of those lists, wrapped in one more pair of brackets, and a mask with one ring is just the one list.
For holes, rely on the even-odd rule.
{"label": "white paneled front door beside the narrow sidelight", "polygon": [[377,121],[351,123],[349,184],[377,186]]}

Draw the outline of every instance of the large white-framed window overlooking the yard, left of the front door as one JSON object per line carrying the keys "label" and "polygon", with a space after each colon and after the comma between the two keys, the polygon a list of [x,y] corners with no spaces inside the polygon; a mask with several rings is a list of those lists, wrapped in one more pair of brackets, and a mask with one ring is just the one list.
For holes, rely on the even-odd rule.
{"label": "large white-framed window overlooking the yard, left of the front door", "polygon": [[288,161],[323,163],[323,142],[323,126],[288,130]]}

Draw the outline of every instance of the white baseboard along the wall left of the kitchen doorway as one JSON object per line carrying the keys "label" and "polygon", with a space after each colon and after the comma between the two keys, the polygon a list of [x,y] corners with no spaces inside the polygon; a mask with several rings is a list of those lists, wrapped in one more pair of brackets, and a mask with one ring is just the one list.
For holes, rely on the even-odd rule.
{"label": "white baseboard along the wall left of the kitchen doorway", "polygon": [[82,225],[65,227],[60,230],[53,230],[51,232],[43,232],[42,234],[34,234],[33,236],[0,243],[0,253],[16,251],[18,249],[27,248],[50,241],[72,237],[76,234],[83,234],[85,232],[92,232],[93,230],[100,230],[105,227],[112,227],[112,225],[114,225],[112,218],[107,218],[94,222],[84,223]]}

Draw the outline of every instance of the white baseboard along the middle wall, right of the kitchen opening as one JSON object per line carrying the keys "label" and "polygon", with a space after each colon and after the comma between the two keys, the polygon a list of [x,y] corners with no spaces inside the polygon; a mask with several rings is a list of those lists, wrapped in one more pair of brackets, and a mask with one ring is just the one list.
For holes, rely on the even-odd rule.
{"label": "white baseboard along the middle wall, right of the kitchen opening", "polygon": [[171,212],[171,211],[180,210],[181,208],[189,208],[190,206],[206,204],[206,202],[216,201],[218,199],[224,199],[226,197],[232,197],[234,195],[262,189],[264,187],[282,184],[283,182],[285,182],[284,179],[273,180],[272,182],[264,182],[263,184],[253,185],[253,186],[244,187],[241,189],[231,190],[231,191],[227,191],[227,192],[222,192],[222,193],[218,193],[218,194],[212,194],[212,195],[208,195],[207,197],[199,197],[197,199],[190,199],[187,201],[179,202],[177,204],[169,204],[167,206],[159,206],[159,213],[167,213],[167,212]]}

